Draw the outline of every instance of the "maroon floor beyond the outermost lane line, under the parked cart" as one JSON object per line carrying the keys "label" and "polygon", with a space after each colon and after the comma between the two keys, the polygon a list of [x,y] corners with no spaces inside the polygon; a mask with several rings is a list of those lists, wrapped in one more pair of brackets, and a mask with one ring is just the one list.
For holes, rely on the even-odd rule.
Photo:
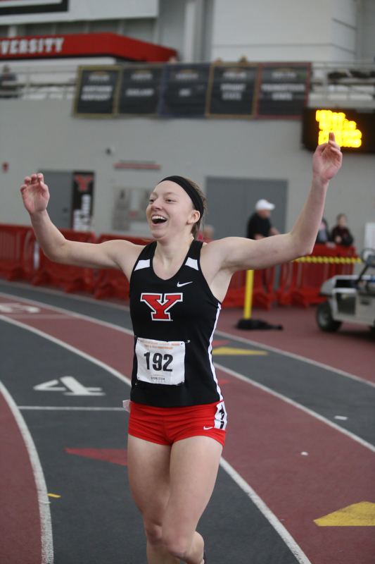
{"label": "maroon floor beyond the outermost lane line, under the parked cart", "polygon": [[243,310],[226,308],[220,313],[217,329],[328,364],[375,383],[375,333],[367,326],[351,323],[343,323],[338,333],[324,333],[317,326],[315,311],[314,307],[275,307],[270,312],[253,309],[254,319],[284,325],[284,331],[241,331],[236,329],[236,324],[243,317]]}

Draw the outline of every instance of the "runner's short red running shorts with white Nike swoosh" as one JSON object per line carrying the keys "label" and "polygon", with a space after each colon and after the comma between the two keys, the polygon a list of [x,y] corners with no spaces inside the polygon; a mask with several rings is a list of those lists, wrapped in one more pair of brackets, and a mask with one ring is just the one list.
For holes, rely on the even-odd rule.
{"label": "runner's short red running shorts with white Nike swoosh", "polygon": [[227,411],[224,401],[189,407],[152,407],[130,403],[129,435],[160,445],[189,436],[210,436],[224,446]]}

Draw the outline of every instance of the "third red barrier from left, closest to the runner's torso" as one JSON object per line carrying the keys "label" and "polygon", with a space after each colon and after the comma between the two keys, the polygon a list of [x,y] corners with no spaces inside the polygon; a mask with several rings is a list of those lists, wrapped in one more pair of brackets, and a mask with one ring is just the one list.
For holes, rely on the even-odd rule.
{"label": "third red barrier from left, closest to the runner's torso", "polygon": [[[104,243],[113,239],[120,239],[123,241],[130,241],[134,245],[147,245],[153,239],[146,237],[132,237],[131,235],[113,235],[110,233],[103,233],[98,238],[97,243]],[[94,298],[101,300],[101,298],[121,298],[122,300],[129,300],[129,281],[123,272],[115,269],[99,270],[98,277],[96,278]]]}

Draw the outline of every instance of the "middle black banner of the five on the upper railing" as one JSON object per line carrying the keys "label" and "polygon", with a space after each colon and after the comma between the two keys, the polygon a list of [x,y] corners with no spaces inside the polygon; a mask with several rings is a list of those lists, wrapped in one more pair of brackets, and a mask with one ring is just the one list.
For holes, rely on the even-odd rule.
{"label": "middle black banner of the five on the upper railing", "polygon": [[165,65],[160,116],[202,118],[205,115],[210,64]]}

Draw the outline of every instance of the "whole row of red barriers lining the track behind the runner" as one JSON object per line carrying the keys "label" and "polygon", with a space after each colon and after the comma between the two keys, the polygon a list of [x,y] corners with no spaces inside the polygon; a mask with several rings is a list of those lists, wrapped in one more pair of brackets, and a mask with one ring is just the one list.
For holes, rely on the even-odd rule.
{"label": "whole row of red barriers lining the track behind the runner", "polygon": [[[103,243],[120,239],[135,245],[146,245],[152,239],[131,235],[103,233],[96,240],[94,233],[61,229],[68,240],[82,243]],[[32,284],[60,286],[65,292],[84,290],[94,293],[94,298],[107,297],[129,299],[129,282],[119,270],[83,269],[80,266],[57,264],[46,258],[39,250],[39,264],[34,267],[35,236],[31,227],[0,224],[0,276],[8,280],[17,278],[31,280]],[[319,295],[322,283],[336,274],[352,274],[355,247],[315,245],[312,255],[281,264],[279,281],[275,267],[255,270],[253,306],[271,309],[272,303],[308,307],[326,298]],[[345,259],[353,259],[345,263]],[[341,262],[340,262],[341,261]],[[234,274],[229,284],[223,307],[242,307],[245,298],[246,271]],[[277,288],[275,286],[278,286]]]}

